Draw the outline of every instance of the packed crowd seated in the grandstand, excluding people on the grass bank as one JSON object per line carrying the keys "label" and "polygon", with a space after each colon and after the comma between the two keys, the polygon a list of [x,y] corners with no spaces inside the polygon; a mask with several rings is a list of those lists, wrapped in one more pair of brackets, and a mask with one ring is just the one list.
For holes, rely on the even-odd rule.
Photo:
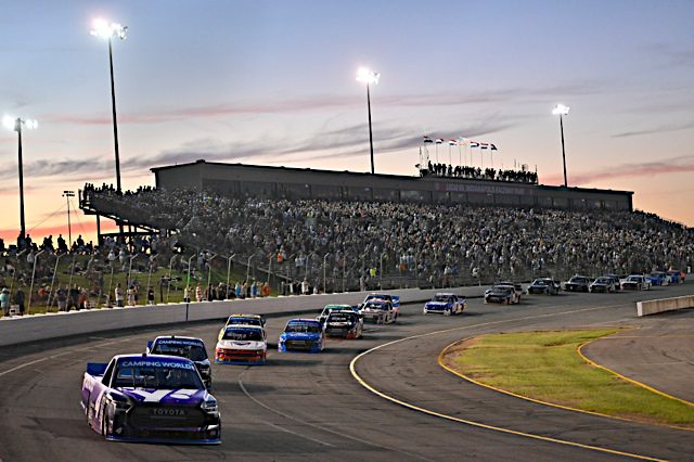
{"label": "packed crowd seated in the grandstand, excluding people on the grass bank", "polygon": [[691,229],[640,211],[259,200],[190,190],[87,193],[100,208],[171,231],[172,252],[233,255],[288,283],[627,274],[683,269],[694,256]]}

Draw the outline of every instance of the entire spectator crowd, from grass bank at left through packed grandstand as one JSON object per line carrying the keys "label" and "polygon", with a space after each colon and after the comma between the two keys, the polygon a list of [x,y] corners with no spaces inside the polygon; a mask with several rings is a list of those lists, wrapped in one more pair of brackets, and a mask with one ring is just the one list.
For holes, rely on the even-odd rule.
{"label": "entire spectator crowd, from grass bank at left through packed grandstand", "polygon": [[[24,310],[30,287],[35,303],[68,310],[87,308],[95,294],[110,306],[139,305],[143,298],[163,303],[171,286],[187,300],[214,300],[268,296],[272,290],[287,295],[363,291],[384,280],[444,286],[687,270],[694,258],[693,229],[641,211],[265,200],[152,188],[118,194],[91,184],[81,194],[90,207],[159,233],[106,236],[101,246],[81,235],[72,243],[59,235],[55,244],[47,236],[40,245],[28,234],[17,245],[0,240],[5,315],[11,305]],[[73,261],[68,282],[54,273],[64,255]],[[246,278],[210,284],[215,265],[223,271],[234,265]],[[169,274],[190,271],[189,280],[162,277],[158,284],[143,284],[130,279],[132,270],[151,274],[166,267]],[[265,282],[249,278],[250,268]],[[104,284],[104,275],[111,273],[111,281],[114,271],[128,273],[115,290]],[[73,283],[73,272],[89,285]]]}

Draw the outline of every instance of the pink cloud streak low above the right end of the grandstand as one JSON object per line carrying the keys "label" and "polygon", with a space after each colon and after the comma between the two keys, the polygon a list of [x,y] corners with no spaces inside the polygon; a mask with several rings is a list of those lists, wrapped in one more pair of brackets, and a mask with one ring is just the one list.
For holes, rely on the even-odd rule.
{"label": "pink cloud streak low above the right end of the grandstand", "polygon": [[[694,171],[694,155],[607,166],[592,171],[569,175],[568,180],[570,184],[582,185],[615,178],[654,177],[656,175],[683,174],[690,171]],[[541,178],[541,180],[548,184],[561,184],[564,182],[563,177],[560,176],[545,177]]]}

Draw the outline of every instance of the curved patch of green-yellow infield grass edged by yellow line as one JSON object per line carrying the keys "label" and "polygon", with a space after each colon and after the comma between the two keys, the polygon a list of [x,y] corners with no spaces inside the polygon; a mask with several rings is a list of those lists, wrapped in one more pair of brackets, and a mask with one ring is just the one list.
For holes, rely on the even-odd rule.
{"label": "curved patch of green-yellow infield grass edged by yellow line", "polygon": [[617,329],[484,335],[446,362],[471,378],[524,397],[645,422],[694,427],[694,408],[587,363],[580,345]]}

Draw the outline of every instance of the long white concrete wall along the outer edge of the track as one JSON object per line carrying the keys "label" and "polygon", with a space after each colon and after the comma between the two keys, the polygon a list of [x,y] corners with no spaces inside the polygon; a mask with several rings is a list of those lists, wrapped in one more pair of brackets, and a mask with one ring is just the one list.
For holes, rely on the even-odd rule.
{"label": "long white concrete wall along the outer edge of the track", "polygon": [[[384,293],[399,295],[400,303],[407,304],[424,303],[437,292],[453,292],[466,297],[477,297],[481,296],[484,291],[485,287],[474,286],[444,290],[404,288],[384,291]],[[318,315],[323,306],[327,304],[357,305],[369,293],[294,295],[244,300],[149,305],[132,308],[85,309],[80,311],[2,318],[0,319],[0,345],[14,345],[118,329],[222,319],[235,312],[269,315],[306,311]]]}

